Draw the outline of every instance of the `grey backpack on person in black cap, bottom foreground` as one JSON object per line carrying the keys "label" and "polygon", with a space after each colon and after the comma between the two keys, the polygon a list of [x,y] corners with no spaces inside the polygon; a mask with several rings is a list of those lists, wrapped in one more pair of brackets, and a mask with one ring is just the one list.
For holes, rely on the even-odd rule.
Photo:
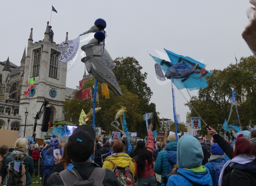
{"label": "grey backpack on person in black cap, bottom foreground", "polygon": [[[71,164],[69,164],[71,165]],[[63,181],[65,186],[78,186],[78,185],[86,185],[86,186],[104,186],[102,181],[105,177],[105,169],[100,167],[95,167],[92,171],[88,180],[83,180],[79,173],[73,168],[69,169],[70,166],[67,167],[66,170],[60,172],[61,180]]]}

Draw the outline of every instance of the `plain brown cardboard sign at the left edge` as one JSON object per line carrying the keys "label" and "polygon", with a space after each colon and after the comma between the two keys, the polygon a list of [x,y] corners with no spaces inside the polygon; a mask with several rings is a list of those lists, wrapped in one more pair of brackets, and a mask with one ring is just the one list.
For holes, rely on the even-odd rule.
{"label": "plain brown cardboard sign at the left edge", "polygon": [[18,139],[18,132],[15,130],[0,129],[0,146],[7,145],[9,148],[13,148],[15,141]]}

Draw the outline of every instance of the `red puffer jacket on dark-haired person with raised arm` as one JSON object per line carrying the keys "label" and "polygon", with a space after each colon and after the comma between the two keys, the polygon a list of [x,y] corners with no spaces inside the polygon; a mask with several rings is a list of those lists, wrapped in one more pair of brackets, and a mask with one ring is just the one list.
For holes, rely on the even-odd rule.
{"label": "red puffer jacket on dark-haired person with raised arm", "polygon": [[[147,150],[150,151],[152,153],[152,156],[153,156],[153,153],[154,153],[154,138],[153,138],[153,133],[152,132],[148,132],[148,142],[147,142]],[[135,159],[135,162],[134,162],[134,165],[135,165],[135,176],[138,176],[138,177],[141,177],[141,178],[147,178],[147,177],[151,177],[153,175],[155,175],[155,171],[154,171],[154,165],[153,163],[150,164],[148,162],[148,160],[146,160],[146,163],[145,163],[145,171],[143,174],[137,174],[137,163],[136,163],[136,159],[137,159],[137,156],[134,156],[133,158]]]}

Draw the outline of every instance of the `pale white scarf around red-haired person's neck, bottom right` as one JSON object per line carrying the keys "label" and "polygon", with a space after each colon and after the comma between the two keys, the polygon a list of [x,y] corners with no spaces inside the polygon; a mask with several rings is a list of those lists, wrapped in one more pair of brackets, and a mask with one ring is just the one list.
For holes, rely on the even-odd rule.
{"label": "pale white scarf around red-haired person's neck, bottom right", "polygon": [[234,157],[233,159],[230,159],[227,161],[227,163],[223,166],[221,172],[220,172],[220,177],[219,177],[219,186],[222,185],[222,177],[223,177],[223,173],[226,169],[226,167],[230,164],[233,163],[238,163],[238,164],[246,164],[246,163],[251,163],[256,157],[254,155],[246,155],[246,154],[242,154],[242,155],[238,155],[236,157]]}

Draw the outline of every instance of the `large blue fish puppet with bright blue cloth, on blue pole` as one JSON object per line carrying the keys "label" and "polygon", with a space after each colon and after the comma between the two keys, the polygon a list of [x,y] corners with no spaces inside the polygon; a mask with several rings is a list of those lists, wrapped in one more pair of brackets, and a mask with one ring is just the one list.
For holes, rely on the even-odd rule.
{"label": "large blue fish puppet with bright blue cloth, on blue pole", "polygon": [[[166,49],[165,51],[171,62],[150,55],[156,62],[155,71],[156,77],[159,80],[171,79],[180,90],[183,88],[195,90],[207,87],[205,75],[211,75],[212,73],[205,70],[203,63],[197,62],[190,57],[175,54]],[[165,74],[163,74],[163,71]]]}

